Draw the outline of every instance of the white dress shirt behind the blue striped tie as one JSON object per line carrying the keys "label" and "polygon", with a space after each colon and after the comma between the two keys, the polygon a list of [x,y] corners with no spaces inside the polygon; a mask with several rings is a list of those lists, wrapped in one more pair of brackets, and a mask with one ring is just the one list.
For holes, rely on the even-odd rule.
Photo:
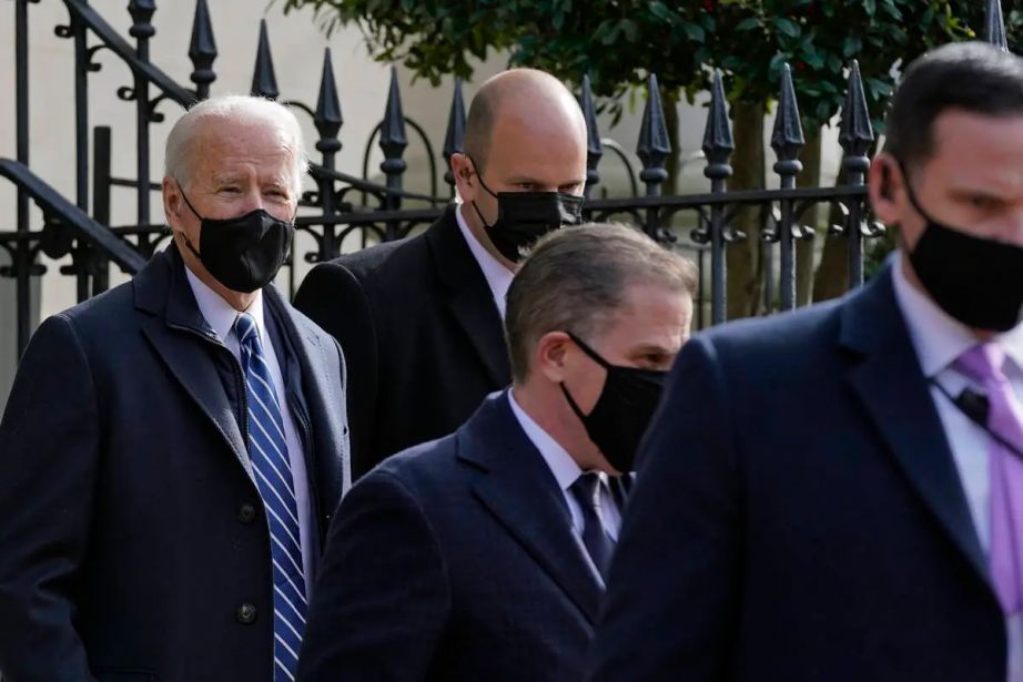
{"label": "white dress shirt behind the blue striped tie", "polygon": [[[241,346],[237,334],[234,332],[234,320],[241,313],[231,307],[226,301],[221,298],[220,294],[206,286],[195,274],[185,266],[185,274],[189,278],[189,285],[195,295],[195,303],[199,304],[199,311],[210,328],[216,334],[217,339],[227,347],[227,350],[234,356],[234,359],[241,364]],[[295,428],[295,420],[292,417],[287,406],[287,394],[284,389],[284,377],[281,374],[281,365],[277,362],[277,352],[274,348],[273,339],[266,330],[263,320],[263,293],[256,292],[255,301],[245,311],[255,320],[256,328],[260,330],[260,340],[263,343],[263,350],[266,354],[266,365],[270,367],[270,376],[273,379],[274,391],[277,394],[277,405],[282,407],[281,417],[284,419],[284,439],[287,442],[287,458],[291,461],[292,478],[295,486],[295,502],[298,511],[298,536],[302,542],[302,560],[305,573],[305,592],[306,597],[312,593],[313,584],[313,542],[312,542],[312,513],[310,507],[310,487],[308,477],[305,469],[305,455],[302,450],[302,441],[298,439],[298,431]],[[242,434],[246,439],[247,434]]]}

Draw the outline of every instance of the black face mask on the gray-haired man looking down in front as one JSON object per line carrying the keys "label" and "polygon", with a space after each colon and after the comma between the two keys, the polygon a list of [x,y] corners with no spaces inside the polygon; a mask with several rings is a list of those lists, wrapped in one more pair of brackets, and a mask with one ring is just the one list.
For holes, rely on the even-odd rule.
{"label": "black face mask on the gray-haired man looking down in front", "polygon": [[608,464],[628,474],[632,470],[639,441],[657,409],[668,373],[611,365],[575,334],[569,332],[568,336],[583,353],[607,370],[607,379],[588,415],[583,414],[565,384],[561,384],[561,393]]}

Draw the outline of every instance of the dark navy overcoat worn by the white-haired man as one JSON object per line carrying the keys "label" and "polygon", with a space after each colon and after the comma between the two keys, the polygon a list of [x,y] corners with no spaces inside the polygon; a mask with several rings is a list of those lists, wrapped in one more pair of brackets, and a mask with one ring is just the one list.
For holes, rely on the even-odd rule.
{"label": "dark navy overcoat worn by the white-haired man", "polygon": [[[344,364],[263,294],[322,537],[348,483]],[[4,682],[272,680],[244,385],[211,335],[172,246],[33,336],[0,423]]]}

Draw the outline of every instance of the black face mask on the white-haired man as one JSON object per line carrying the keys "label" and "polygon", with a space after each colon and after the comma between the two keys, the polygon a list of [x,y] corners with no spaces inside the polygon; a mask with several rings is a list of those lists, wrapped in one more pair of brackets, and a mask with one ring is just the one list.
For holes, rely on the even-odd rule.
{"label": "black face mask on the white-haired man", "polygon": [[181,197],[200,220],[199,247],[185,237],[189,251],[206,271],[232,292],[251,294],[266,286],[287,257],[293,223],[276,218],[263,208],[226,220],[199,215],[181,190]]}

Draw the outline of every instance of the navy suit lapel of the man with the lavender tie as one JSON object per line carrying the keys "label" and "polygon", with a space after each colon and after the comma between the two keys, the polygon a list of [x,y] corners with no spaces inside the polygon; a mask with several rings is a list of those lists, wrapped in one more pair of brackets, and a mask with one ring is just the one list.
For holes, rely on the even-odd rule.
{"label": "navy suit lapel of the man with the lavender tie", "polygon": [[849,383],[915,492],[978,574],[989,572],[952,450],[895,301],[891,266],[845,305]]}

